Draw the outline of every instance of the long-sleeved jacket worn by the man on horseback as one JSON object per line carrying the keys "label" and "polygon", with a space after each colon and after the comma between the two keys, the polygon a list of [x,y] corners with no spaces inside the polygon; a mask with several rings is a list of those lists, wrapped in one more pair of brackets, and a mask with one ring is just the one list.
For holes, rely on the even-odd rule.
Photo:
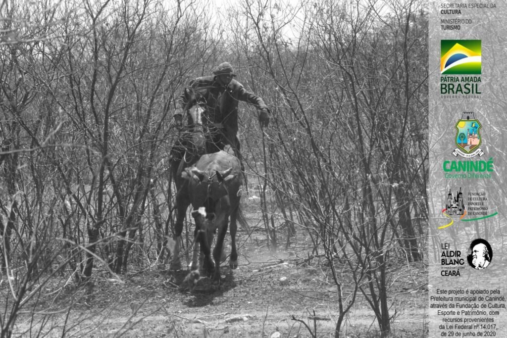
{"label": "long-sleeved jacket worn by the man on horseback", "polygon": [[[234,79],[227,86],[221,86],[214,76],[201,77],[191,81],[189,87],[205,98],[208,122],[221,123],[225,133],[230,136],[235,136],[238,132],[239,101],[253,104],[258,109],[267,108],[262,98],[246,91],[243,85]],[[186,101],[185,94],[176,99],[176,114],[183,114]]]}

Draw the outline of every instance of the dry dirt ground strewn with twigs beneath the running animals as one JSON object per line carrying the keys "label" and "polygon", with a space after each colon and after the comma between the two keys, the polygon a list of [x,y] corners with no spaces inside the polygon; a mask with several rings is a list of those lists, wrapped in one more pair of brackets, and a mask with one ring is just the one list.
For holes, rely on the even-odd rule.
{"label": "dry dirt ground strewn with twigs beneath the running animals", "polygon": [[[231,270],[224,262],[220,286],[201,276],[190,292],[182,287],[187,271],[138,266],[120,276],[121,281],[97,268],[89,294],[90,290],[72,283],[63,292],[53,293],[66,282],[55,278],[38,299],[34,316],[26,311],[30,307],[21,311],[13,336],[37,336],[41,331],[50,337],[334,337],[338,295],[325,259],[315,252],[309,259],[311,243],[303,230],[285,248],[286,236],[281,236],[280,229],[284,243],[275,252],[267,247],[260,228],[238,231],[239,267]],[[343,268],[340,283],[346,299],[351,296],[351,281]],[[424,265],[392,268],[388,292],[392,336],[426,336]],[[363,295],[358,294],[341,336],[379,336]]]}

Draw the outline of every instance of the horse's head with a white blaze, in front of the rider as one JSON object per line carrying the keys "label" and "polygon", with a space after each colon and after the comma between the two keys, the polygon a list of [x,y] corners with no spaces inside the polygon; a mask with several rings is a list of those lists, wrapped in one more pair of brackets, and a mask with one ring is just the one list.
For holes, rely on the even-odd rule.
{"label": "horse's head with a white blaze, in front of the rider", "polygon": [[194,92],[185,89],[185,96],[187,97],[187,106],[185,110],[188,116],[190,131],[192,133],[192,143],[198,149],[204,149],[205,136],[203,119],[204,112],[206,111],[206,100],[199,92]]}

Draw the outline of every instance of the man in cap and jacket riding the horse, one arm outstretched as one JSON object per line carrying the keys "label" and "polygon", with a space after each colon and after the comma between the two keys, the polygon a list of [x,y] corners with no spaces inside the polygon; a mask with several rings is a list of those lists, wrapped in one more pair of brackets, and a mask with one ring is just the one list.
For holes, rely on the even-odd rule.
{"label": "man in cap and jacket riding the horse, one arm outstretched", "polygon": [[[206,149],[207,154],[223,150],[229,144],[236,157],[241,159],[238,132],[238,102],[244,101],[253,104],[259,110],[259,122],[267,127],[270,120],[270,111],[263,99],[258,95],[246,91],[243,86],[234,80],[236,76],[229,62],[221,63],[213,70],[212,76],[200,77],[190,82],[190,90],[199,95],[204,101],[205,113],[203,125],[207,128]],[[189,102],[187,92],[176,99],[174,122],[176,126],[183,125],[183,112]],[[183,140],[177,140],[171,149],[171,167],[177,168],[183,159],[186,148]],[[242,163],[242,161],[241,161]],[[241,167],[243,165],[241,164]]]}

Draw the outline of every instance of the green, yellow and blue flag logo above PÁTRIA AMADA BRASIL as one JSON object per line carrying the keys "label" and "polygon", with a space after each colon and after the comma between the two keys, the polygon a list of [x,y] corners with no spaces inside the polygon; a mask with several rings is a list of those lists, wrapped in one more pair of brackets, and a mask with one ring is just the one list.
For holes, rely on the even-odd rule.
{"label": "green, yellow and blue flag logo above P\u00c1TRIA AMADA BRASIL", "polygon": [[481,40],[441,40],[440,72],[481,74]]}

